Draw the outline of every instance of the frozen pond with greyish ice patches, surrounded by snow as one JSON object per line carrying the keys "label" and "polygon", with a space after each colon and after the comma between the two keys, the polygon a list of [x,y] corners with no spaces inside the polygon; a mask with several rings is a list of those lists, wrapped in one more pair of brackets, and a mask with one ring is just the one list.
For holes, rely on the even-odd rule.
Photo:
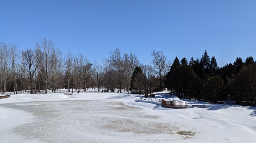
{"label": "frozen pond with greyish ice patches, surrounded by snow", "polygon": [[[39,142],[148,142],[178,139],[178,126],[146,114],[142,108],[121,102],[45,101],[8,103],[0,106],[18,109],[35,120],[12,128],[25,140]],[[178,137],[178,138],[177,138]]]}

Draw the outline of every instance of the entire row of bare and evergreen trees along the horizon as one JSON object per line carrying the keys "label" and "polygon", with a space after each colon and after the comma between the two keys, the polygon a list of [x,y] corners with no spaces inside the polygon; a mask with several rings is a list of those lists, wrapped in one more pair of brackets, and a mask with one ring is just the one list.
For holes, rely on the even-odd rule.
{"label": "entire row of bare and evergreen trees along the horizon", "polygon": [[234,100],[238,105],[256,105],[256,61],[237,57],[234,63],[218,67],[205,50],[202,57],[189,62],[175,57],[173,62],[162,51],[152,51],[150,64],[140,63],[133,53],[110,51],[102,64],[91,63],[79,53],[66,56],[50,38],[42,38],[33,49],[21,51],[14,43],[0,43],[0,92],[14,94],[60,89],[81,92],[104,88],[104,92],[143,93],[168,89],[187,99],[211,103]]}

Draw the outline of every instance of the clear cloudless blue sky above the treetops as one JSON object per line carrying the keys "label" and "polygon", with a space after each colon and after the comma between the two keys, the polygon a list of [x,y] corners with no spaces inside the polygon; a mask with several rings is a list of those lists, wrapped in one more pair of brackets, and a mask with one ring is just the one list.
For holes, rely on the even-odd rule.
{"label": "clear cloudless blue sky above the treetops", "polygon": [[0,42],[25,50],[42,37],[98,63],[115,48],[144,64],[153,50],[172,62],[206,50],[222,67],[256,60],[256,0],[0,0]]}

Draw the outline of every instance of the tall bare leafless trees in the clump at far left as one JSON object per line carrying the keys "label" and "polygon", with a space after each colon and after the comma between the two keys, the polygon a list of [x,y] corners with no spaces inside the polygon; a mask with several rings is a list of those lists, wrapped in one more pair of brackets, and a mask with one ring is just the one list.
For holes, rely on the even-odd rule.
{"label": "tall bare leafless trees in the clump at far left", "polygon": [[13,43],[2,42],[0,51],[0,92],[3,93],[32,94],[48,90],[56,93],[62,88],[80,91],[85,90],[86,81],[93,76],[87,57],[68,53],[63,59],[50,38],[42,38],[34,48],[25,51]]}

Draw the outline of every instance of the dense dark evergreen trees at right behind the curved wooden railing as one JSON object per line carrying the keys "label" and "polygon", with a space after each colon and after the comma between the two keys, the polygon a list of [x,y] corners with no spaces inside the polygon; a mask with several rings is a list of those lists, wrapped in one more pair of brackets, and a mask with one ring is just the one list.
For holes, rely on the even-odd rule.
{"label": "dense dark evergreen trees at right behind the curved wooden railing", "polygon": [[192,57],[189,64],[176,57],[166,77],[166,87],[182,98],[195,98],[211,103],[233,99],[240,105],[256,105],[256,62],[237,57],[234,64],[217,66],[216,58],[207,51],[201,59]]}

